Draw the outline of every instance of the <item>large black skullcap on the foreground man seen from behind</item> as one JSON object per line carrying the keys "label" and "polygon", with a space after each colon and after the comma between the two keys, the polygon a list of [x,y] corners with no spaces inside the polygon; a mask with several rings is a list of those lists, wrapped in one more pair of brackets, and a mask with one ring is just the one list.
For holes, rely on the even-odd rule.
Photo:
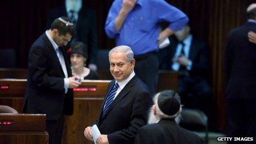
{"label": "large black skullcap on the foreground man seen from behind", "polygon": [[159,109],[166,115],[174,115],[180,109],[180,97],[174,90],[160,92],[157,104]]}

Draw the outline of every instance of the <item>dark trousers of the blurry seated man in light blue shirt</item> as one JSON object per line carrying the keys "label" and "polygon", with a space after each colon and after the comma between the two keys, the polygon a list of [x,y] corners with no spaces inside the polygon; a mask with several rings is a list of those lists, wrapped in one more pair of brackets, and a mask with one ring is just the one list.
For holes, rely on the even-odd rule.
{"label": "dark trousers of the blurry seated man in light blue shirt", "polygon": [[209,116],[212,99],[209,84],[201,77],[179,77],[178,93],[185,108],[194,108],[204,111]]}

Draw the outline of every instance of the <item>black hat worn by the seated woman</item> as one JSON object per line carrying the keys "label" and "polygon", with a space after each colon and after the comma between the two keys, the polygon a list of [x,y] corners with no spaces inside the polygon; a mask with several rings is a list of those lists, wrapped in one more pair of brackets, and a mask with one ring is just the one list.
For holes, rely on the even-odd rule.
{"label": "black hat worn by the seated woman", "polygon": [[88,48],[87,45],[84,44],[83,42],[73,42],[71,44],[71,54],[81,54],[84,57],[88,58]]}

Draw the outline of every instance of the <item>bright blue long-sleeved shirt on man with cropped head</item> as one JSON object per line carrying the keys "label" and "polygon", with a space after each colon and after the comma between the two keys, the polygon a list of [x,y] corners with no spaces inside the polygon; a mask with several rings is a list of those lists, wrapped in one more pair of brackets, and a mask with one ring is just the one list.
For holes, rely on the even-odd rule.
{"label": "bright blue long-sleeved shirt on man with cropped head", "polygon": [[121,8],[122,0],[115,0],[106,19],[105,31],[110,38],[116,39],[116,45],[130,46],[135,55],[158,51],[161,22],[169,22],[168,28],[174,31],[188,23],[188,17],[182,11],[164,0],[137,0],[121,29],[116,31],[115,19]]}

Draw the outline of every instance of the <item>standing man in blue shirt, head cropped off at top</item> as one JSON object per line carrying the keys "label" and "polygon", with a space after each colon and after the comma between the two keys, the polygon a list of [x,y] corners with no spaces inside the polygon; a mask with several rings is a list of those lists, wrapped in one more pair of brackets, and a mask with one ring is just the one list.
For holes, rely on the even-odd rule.
{"label": "standing man in blue shirt, head cropped off at top", "polygon": [[[160,33],[160,23],[169,26]],[[188,17],[163,0],[115,0],[105,23],[106,34],[116,45],[128,45],[135,54],[135,72],[156,92],[158,81],[158,44],[180,30]]]}

